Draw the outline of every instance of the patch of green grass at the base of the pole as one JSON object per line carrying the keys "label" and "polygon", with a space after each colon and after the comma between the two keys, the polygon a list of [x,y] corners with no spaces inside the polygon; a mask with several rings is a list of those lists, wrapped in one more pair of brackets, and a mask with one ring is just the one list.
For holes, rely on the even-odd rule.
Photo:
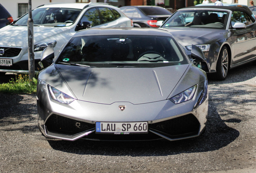
{"label": "patch of green grass at the base of the pole", "polygon": [[29,81],[29,75],[16,74],[15,79],[11,78],[8,83],[0,84],[1,93],[36,93],[37,79],[33,78]]}

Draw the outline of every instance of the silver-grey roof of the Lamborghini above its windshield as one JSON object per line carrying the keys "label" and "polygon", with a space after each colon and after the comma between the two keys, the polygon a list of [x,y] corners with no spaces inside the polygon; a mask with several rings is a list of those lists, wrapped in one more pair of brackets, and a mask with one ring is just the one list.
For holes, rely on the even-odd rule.
{"label": "silver-grey roof of the Lamborghini above its windshield", "polygon": [[164,29],[159,28],[89,28],[74,34],[75,36],[88,35],[142,35],[142,36],[171,36],[173,35]]}

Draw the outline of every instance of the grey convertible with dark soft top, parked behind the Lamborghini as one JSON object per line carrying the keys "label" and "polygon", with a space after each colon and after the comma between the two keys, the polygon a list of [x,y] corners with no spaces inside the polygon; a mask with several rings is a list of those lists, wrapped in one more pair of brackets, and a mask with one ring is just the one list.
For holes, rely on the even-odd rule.
{"label": "grey convertible with dark soft top, parked behind the Lamborghini", "polygon": [[202,49],[202,69],[225,80],[229,68],[256,60],[256,22],[246,6],[194,6],[182,8],[164,23],[191,54],[191,45]]}

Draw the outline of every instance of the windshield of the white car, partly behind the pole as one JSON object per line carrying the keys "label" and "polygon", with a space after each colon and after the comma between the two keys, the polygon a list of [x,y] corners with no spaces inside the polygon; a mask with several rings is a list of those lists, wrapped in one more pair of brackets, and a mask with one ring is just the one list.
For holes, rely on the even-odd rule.
{"label": "windshield of the white car, partly behind the pole", "polygon": [[[80,12],[74,8],[36,8],[32,11],[32,18],[34,25],[69,26]],[[28,14],[25,14],[15,24],[27,26],[27,20]]]}

